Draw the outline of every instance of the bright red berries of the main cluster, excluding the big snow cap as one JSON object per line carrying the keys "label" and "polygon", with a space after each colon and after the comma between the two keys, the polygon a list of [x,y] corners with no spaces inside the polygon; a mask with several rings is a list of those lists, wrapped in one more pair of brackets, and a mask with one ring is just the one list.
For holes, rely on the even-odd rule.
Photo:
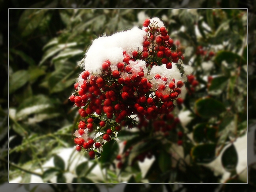
{"label": "bright red berries of the main cluster, excluding the big snow cap", "polygon": [[[155,132],[166,132],[178,123],[170,112],[175,107],[174,101],[178,105],[183,102],[178,96],[184,82],[176,82],[174,78],[160,74],[149,78],[148,71],[153,65],[162,64],[171,69],[171,62],[177,63],[179,59],[184,59],[182,51],[174,51],[176,46],[173,46],[173,40],[167,35],[165,27],[156,27],[155,23],[150,25],[148,20],[144,27],[147,27],[147,35],[142,52],[134,50],[129,55],[124,51],[123,62],[117,64],[106,60],[102,63],[101,74],[84,71],[81,74],[83,81],[75,84],[75,92],[69,97],[79,108],[82,117],[79,129],[75,132],[76,150],[88,151],[91,158],[95,157],[94,150],[98,149],[100,153],[103,144],[114,139],[121,127],[142,128],[150,120]],[[162,80],[164,83],[153,89],[153,80]],[[174,119],[173,124],[161,120],[165,114],[168,119]],[[139,120],[131,118],[132,115],[136,115]],[[97,133],[102,132],[96,138]]]}

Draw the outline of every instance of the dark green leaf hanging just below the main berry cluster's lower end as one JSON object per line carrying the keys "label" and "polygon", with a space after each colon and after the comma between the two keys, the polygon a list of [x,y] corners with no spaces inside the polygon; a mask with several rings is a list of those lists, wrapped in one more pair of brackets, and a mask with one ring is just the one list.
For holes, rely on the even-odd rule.
{"label": "dark green leaf hanging just below the main berry cluster's lower end", "polygon": [[102,147],[101,162],[110,163],[112,162],[119,153],[119,146],[116,140],[112,139]]}

